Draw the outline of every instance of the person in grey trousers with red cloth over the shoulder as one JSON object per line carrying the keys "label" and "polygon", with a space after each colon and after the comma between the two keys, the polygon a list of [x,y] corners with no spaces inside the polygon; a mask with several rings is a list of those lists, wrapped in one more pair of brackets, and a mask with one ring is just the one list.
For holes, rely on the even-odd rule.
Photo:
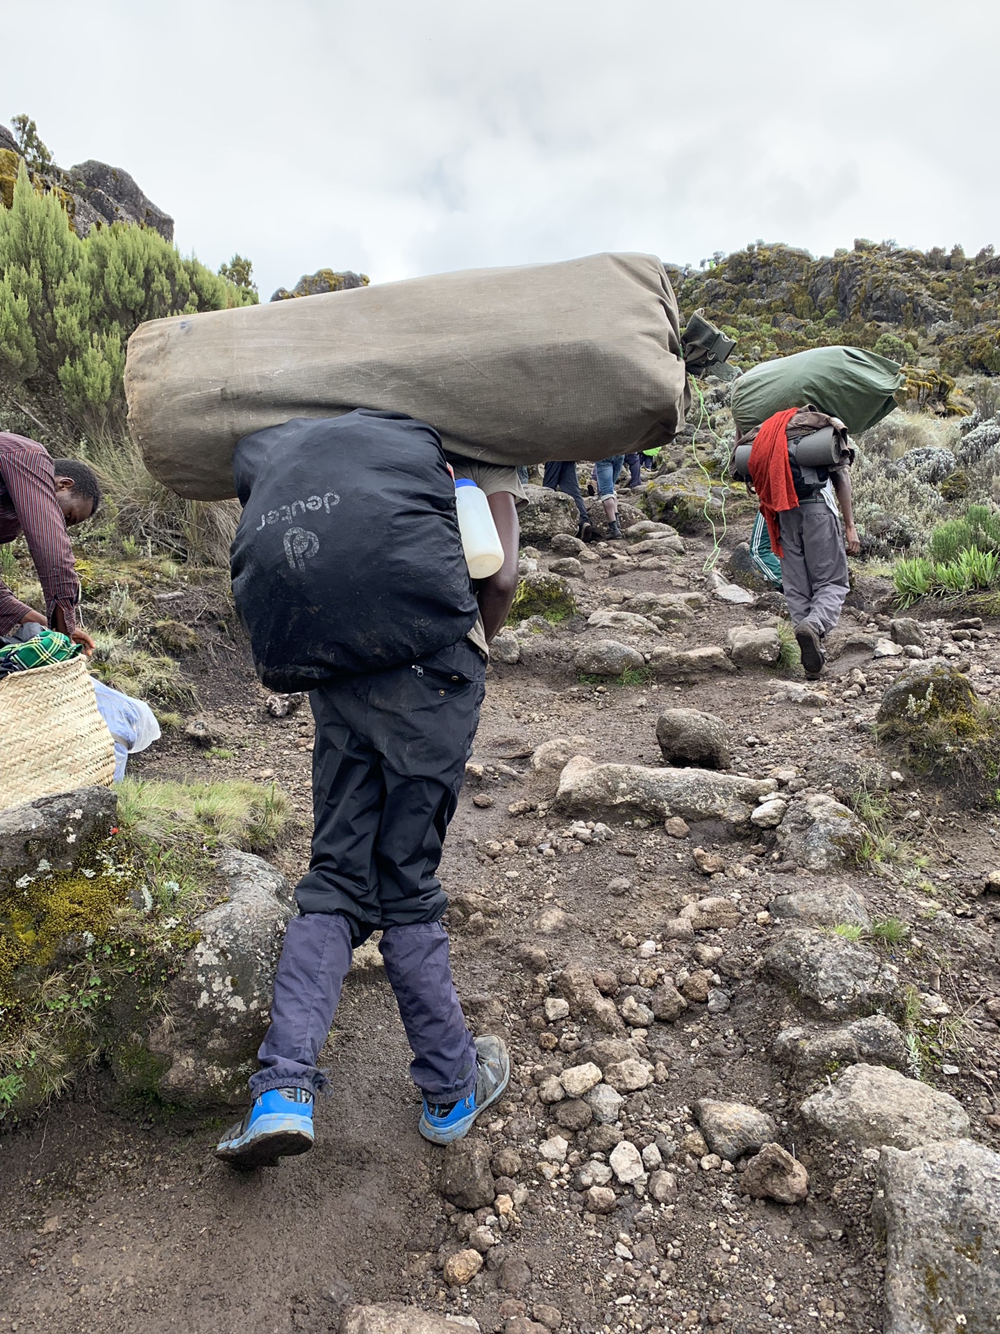
{"label": "person in grey trousers with red cloth over the shoulder", "polygon": [[789,446],[795,448],[827,427],[840,432],[847,443],[843,422],[813,407],[776,412],[736,442],[753,443],[751,480],[767,520],[771,548],[781,562],[781,584],[807,676],[823,671],[823,639],[840,620],[851,591],[847,556],[861,550],[848,472],[853,451],[847,447],[845,462],[829,467],[803,467],[789,452]]}

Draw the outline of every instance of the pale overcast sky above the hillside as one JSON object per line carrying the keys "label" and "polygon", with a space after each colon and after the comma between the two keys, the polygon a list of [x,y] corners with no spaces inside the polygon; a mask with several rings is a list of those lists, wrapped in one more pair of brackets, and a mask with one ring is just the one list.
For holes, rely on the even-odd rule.
{"label": "pale overcast sky above the hillside", "polygon": [[0,123],[261,296],[757,237],[1000,245],[989,0],[0,0]]}

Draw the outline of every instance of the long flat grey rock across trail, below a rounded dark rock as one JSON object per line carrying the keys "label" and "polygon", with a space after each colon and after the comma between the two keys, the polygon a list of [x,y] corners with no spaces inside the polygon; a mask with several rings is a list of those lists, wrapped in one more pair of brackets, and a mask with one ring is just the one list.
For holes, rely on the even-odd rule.
{"label": "long flat grey rock across trail, below a rounded dark rock", "polygon": [[748,824],[763,796],[776,791],[773,778],[739,778],[704,768],[645,768],[640,764],[596,764],[587,756],[569,760],[559,779],[555,804],[588,819],[653,815],[665,820],[721,819]]}

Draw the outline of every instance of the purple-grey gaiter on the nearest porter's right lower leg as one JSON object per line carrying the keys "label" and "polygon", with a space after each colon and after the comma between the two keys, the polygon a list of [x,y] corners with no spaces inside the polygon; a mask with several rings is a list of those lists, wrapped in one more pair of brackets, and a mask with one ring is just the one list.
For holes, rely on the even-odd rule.
{"label": "purple-grey gaiter on the nearest porter's right lower leg", "polygon": [[467,1098],[476,1085],[476,1045],[455,991],[448,932],[440,922],[392,926],[379,948],[413,1051],[413,1083],[432,1103]]}

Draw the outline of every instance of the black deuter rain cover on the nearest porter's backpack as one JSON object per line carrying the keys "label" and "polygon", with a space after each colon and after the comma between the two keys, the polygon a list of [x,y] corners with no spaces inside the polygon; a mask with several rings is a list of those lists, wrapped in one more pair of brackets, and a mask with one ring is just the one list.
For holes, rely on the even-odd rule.
{"label": "black deuter rain cover on the nearest porter's backpack", "polygon": [[232,588],[261,682],[313,690],[457,643],[479,607],[433,427],[359,408],[248,435]]}

